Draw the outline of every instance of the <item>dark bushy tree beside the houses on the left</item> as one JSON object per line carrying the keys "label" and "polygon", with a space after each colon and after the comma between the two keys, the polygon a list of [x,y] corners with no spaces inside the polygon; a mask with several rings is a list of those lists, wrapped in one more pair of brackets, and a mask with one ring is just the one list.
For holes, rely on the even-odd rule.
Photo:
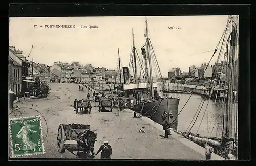
{"label": "dark bushy tree beside the houses on the left", "polygon": [[39,77],[35,78],[35,82],[30,86],[30,92],[39,98],[46,98],[50,94],[50,86],[46,81],[41,81]]}

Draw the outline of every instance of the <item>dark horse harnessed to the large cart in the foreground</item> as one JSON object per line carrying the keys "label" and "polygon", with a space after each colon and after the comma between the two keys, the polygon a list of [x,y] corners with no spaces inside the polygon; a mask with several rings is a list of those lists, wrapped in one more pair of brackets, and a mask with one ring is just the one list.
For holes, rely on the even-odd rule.
{"label": "dark horse harnessed to the large cart in the foreground", "polygon": [[[88,157],[88,153],[92,153],[92,158],[94,158],[94,144],[97,138],[97,134],[93,131],[86,130],[84,132],[80,132],[77,135],[77,155],[79,155],[79,147],[83,148],[83,153]],[[81,142],[82,141],[82,142]]]}

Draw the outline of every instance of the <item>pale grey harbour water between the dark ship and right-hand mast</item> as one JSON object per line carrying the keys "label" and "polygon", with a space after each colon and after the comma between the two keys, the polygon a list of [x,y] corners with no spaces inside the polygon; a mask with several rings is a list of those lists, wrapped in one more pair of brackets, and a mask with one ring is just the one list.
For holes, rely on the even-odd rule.
{"label": "pale grey harbour water between the dark ship and right-hand mast", "polygon": [[[179,108],[178,112],[181,111],[181,109],[184,107],[185,103],[187,102],[188,98],[190,97],[191,94],[173,94],[173,93],[168,93],[169,96],[172,97],[179,97],[180,98],[180,103],[179,103]],[[192,94],[190,99],[188,100],[187,104],[181,111],[181,113],[178,116],[178,131],[189,131],[191,128],[191,125],[194,123],[194,121],[191,123],[193,120],[193,117],[197,110],[201,108],[202,103],[202,98],[200,95],[197,94]],[[200,105],[200,107],[199,107]],[[208,105],[208,106],[207,106]],[[202,106],[202,109],[198,115],[198,118],[194,124],[194,126],[191,128],[191,133],[197,134],[199,133],[201,136],[207,136],[207,129],[208,135],[209,136],[214,136],[214,137],[221,137],[222,136],[222,127],[223,127],[223,107],[225,106],[225,103],[222,104],[222,102],[218,101],[208,101],[205,100],[204,104]],[[199,107],[199,108],[198,108]],[[233,104],[233,112],[236,112],[234,108],[238,107],[238,103]],[[205,112],[205,114],[204,114]],[[207,116],[208,114],[208,116]],[[197,116],[197,114],[196,114]],[[195,118],[196,118],[195,116]],[[195,120],[194,118],[194,120]],[[234,113],[233,113],[233,125],[235,123],[234,120]],[[201,123],[202,121],[202,123]],[[189,126],[189,124],[191,125]],[[201,125],[200,125],[201,123]],[[224,130],[225,131],[225,130]],[[232,135],[234,134],[234,128],[232,130]]]}

